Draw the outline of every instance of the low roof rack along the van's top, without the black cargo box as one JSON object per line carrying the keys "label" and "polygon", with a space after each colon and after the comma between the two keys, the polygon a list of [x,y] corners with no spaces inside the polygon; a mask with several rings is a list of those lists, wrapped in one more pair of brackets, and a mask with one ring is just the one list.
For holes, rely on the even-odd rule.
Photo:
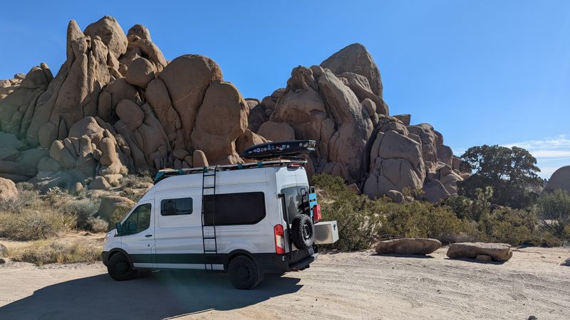
{"label": "low roof rack along the van's top, without the black cargo box", "polygon": [[185,174],[202,174],[203,172],[209,171],[232,171],[240,169],[253,169],[253,168],[264,168],[268,166],[305,166],[306,160],[304,159],[279,159],[271,161],[257,161],[248,162],[245,164],[224,164],[221,166],[204,166],[200,168],[188,168],[188,169],[163,169],[157,172],[155,176],[154,183],[158,183],[165,178],[170,176],[181,176]]}

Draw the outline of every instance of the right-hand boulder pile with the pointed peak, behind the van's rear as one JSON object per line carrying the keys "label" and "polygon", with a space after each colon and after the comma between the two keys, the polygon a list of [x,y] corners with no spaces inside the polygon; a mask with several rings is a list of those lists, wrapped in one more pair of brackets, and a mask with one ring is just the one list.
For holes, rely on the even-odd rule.
{"label": "right-hand boulder pile with the pointed peak, behind the van's rear", "polygon": [[321,66],[294,68],[284,89],[252,105],[250,129],[282,138],[286,129],[267,127],[289,124],[296,139],[316,140],[316,173],[342,176],[371,197],[401,201],[404,188],[426,185],[425,198],[438,202],[457,194],[457,181],[468,175],[430,124],[410,125],[410,114],[390,117],[378,67],[358,43]]}

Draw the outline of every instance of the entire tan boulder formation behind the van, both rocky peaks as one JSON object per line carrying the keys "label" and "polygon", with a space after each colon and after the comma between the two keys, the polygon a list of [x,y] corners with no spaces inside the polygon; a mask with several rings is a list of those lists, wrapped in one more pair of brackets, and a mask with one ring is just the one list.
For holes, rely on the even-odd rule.
{"label": "entire tan boulder formation behind the van, both rocky peaks", "polygon": [[167,61],[145,26],[125,34],[105,16],[67,30],[66,61],[0,80],[0,176],[43,189],[110,188],[128,171],[244,162],[269,140],[314,139],[309,174],[328,173],[371,197],[404,201],[422,189],[457,193],[460,159],[430,124],[390,116],[380,70],[352,44],[321,65],[299,66],[286,86],[244,99],[214,60]]}

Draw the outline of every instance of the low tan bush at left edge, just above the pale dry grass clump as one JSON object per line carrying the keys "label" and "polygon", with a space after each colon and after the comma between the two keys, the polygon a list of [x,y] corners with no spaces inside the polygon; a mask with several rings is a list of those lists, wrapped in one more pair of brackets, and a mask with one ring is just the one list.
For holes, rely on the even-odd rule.
{"label": "low tan bush at left edge, just above the pale dry grass clump", "polygon": [[76,218],[51,208],[24,209],[17,213],[0,212],[0,237],[13,240],[38,240],[58,235],[75,227]]}

